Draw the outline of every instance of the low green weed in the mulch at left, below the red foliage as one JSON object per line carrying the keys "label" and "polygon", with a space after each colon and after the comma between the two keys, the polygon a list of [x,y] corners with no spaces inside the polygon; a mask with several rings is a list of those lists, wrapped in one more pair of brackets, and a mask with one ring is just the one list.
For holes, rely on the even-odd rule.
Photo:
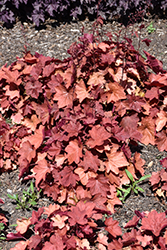
{"label": "low green weed in the mulch at left, below the red foliage", "polygon": [[35,206],[37,204],[37,200],[39,198],[39,194],[42,191],[42,189],[39,192],[36,192],[34,190],[33,182],[31,182],[30,187],[27,191],[23,190],[23,196],[21,199],[19,199],[18,194],[7,194],[7,196],[10,199],[13,199],[17,203],[16,209],[31,209],[31,206]]}

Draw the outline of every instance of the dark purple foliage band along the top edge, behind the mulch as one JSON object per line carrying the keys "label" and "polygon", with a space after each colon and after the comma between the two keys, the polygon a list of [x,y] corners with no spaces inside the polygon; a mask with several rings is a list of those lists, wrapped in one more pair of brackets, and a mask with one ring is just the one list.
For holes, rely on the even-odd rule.
{"label": "dark purple foliage band along the top edge, behind the mulch", "polygon": [[26,17],[39,26],[48,16],[62,21],[66,16],[80,18],[87,14],[96,16],[98,13],[104,19],[114,16],[122,16],[125,19],[129,14],[134,14],[136,9],[143,14],[150,10],[157,13],[165,11],[167,0],[1,0],[0,20],[13,23],[16,17]]}

